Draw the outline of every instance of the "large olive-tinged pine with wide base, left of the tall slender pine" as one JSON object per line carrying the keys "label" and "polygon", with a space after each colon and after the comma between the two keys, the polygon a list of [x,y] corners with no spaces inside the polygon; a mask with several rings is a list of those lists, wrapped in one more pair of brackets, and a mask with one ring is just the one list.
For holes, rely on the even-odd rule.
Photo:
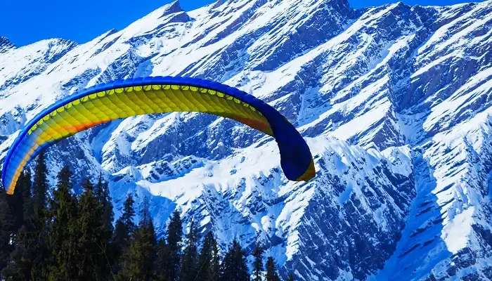
{"label": "large olive-tinged pine with wide base, left of the tall slender pine", "polygon": [[155,230],[148,200],[144,200],[141,221],[134,234],[134,239],[127,252],[122,257],[122,270],[119,280],[153,280],[153,266],[155,262]]}

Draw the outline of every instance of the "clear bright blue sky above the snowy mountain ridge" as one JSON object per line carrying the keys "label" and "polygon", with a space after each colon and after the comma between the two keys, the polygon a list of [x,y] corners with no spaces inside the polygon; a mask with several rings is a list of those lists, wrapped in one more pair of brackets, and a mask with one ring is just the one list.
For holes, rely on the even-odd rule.
{"label": "clear bright blue sky above the snowy mountain ridge", "polygon": [[[216,0],[180,0],[190,11]],[[468,0],[471,1],[471,0]],[[477,0],[476,0],[477,1]],[[63,38],[85,43],[131,22],[171,0],[0,0],[0,35],[24,46],[41,39]],[[354,8],[379,6],[396,0],[349,0]],[[450,5],[467,0],[403,0],[415,5]]]}

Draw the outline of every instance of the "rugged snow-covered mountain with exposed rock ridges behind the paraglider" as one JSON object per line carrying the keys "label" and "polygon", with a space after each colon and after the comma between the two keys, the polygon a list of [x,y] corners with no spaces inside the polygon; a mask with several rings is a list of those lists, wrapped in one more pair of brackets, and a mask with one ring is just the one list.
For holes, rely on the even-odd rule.
{"label": "rugged snow-covered mountain with exposed rock ridges behind the paraglider", "polygon": [[[176,1],[86,44],[0,37],[0,151],[55,100],[148,75],[214,79],[266,100],[308,141],[318,174],[287,181],[272,138],[198,113],[146,115],[48,150],[100,171],[116,215],[150,196],[221,246],[257,235],[299,280],[492,279],[492,1],[447,7],[347,0]],[[77,190],[76,190],[77,191]]]}

